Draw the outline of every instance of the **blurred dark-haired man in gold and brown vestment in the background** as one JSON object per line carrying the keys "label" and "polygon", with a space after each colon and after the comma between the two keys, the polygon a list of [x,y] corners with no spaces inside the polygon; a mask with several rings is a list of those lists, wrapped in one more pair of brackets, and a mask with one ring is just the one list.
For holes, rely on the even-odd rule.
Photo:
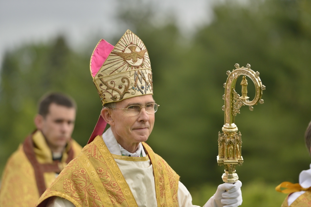
{"label": "blurred dark-haired man in gold and brown vestment in the background", "polygon": [[[34,206],[39,197],[82,147],[71,138],[75,101],[50,93],[39,102],[36,130],[10,156],[0,189],[0,206]],[[31,129],[30,129],[31,130]]]}

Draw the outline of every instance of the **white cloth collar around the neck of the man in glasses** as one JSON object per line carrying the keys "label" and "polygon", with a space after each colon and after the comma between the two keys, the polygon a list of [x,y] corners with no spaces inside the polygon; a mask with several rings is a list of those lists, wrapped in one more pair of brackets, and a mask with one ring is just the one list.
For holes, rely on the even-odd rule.
{"label": "white cloth collar around the neck of the man in glasses", "polygon": [[130,153],[129,151],[127,151],[126,149],[124,149],[116,140],[116,138],[114,137],[114,134],[112,133],[111,128],[109,127],[109,129],[107,129],[107,131],[103,134],[103,140],[108,148],[108,150],[110,151],[111,154],[114,155],[125,155],[125,156],[129,156],[131,155],[131,157],[139,157],[141,154],[143,157],[146,157],[146,153],[144,151],[144,148],[142,146],[142,143],[140,142],[138,145],[138,149],[136,152],[134,153]]}

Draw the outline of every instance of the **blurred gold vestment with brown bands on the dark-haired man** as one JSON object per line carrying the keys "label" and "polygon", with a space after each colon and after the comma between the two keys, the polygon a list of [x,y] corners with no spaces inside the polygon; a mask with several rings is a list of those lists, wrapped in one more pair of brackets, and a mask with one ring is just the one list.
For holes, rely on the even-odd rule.
{"label": "blurred gold vestment with brown bands on the dark-haired man", "polygon": [[76,157],[82,147],[71,139],[61,162],[53,161],[43,134],[36,131],[26,138],[8,159],[2,175],[1,207],[34,206],[57,174]]}

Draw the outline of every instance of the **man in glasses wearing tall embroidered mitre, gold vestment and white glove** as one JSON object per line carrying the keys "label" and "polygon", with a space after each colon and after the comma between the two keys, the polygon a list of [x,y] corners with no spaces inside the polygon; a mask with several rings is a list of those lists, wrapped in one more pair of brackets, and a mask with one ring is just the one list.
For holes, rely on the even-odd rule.
{"label": "man in glasses wearing tall embroidered mitre, gold vestment and white glove", "polygon": [[[37,206],[191,207],[179,175],[145,141],[159,105],[150,59],[128,30],[114,47],[105,40],[91,56],[91,75],[103,104],[88,144],[44,192]],[[106,123],[110,128],[103,134]],[[218,186],[205,207],[236,207],[242,183]]]}

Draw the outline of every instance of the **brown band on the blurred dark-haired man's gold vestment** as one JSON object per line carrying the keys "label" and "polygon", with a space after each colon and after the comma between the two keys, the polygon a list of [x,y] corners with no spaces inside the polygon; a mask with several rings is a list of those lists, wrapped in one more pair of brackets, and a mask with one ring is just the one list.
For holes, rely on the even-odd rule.
{"label": "brown band on the blurred dark-haired man's gold vestment", "polygon": [[[34,168],[35,178],[36,178],[37,187],[38,187],[38,191],[39,191],[39,196],[41,196],[44,193],[44,191],[47,189],[47,187],[45,186],[43,173],[45,173],[45,172],[60,173],[62,171],[62,169],[59,168],[58,164],[60,162],[58,160],[54,160],[53,163],[51,163],[51,164],[49,164],[49,163],[48,164],[40,164],[38,162],[36,155],[35,155],[35,151],[34,151],[34,142],[32,140],[32,136],[34,133],[32,133],[28,137],[26,137],[26,139],[23,143],[23,149],[24,149],[24,152],[25,152],[28,160],[30,161],[32,167]],[[73,159],[73,153],[74,152],[73,152],[73,149],[71,146],[67,152],[68,158],[66,160],[66,163],[69,163]]]}

